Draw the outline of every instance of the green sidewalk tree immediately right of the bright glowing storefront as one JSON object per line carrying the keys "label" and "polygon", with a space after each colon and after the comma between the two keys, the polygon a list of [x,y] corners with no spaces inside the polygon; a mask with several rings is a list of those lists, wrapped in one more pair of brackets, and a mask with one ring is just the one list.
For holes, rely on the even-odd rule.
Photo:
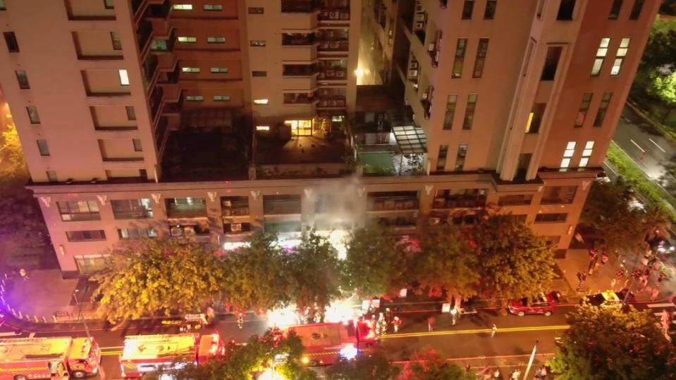
{"label": "green sidewalk tree immediately right of the bright glowing storefront", "polygon": [[391,229],[373,223],[352,231],[342,262],[343,289],[364,297],[378,298],[398,293],[409,278],[405,246]]}

